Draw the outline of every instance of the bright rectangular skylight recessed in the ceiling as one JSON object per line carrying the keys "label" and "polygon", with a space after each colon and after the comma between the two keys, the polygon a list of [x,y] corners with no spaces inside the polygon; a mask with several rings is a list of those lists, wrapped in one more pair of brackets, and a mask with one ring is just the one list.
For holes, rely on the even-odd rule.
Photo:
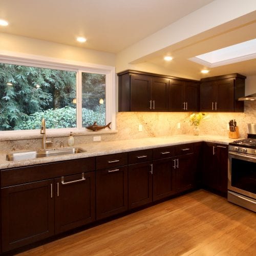
{"label": "bright rectangular skylight recessed in the ceiling", "polygon": [[189,60],[200,63],[206,67],[219,67],[256,57],[256,39],[241,42],[240,44],[208,52]]}

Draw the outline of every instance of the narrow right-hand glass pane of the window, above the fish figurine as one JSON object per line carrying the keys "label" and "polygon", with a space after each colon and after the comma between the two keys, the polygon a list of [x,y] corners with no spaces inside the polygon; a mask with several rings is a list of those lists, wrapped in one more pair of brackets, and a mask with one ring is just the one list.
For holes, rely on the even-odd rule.
{"label": "narrow right-hand glass pane of the window, above the fish figurine", "polygon": [[106,123],[106,76],[82,72],[82,127]]}

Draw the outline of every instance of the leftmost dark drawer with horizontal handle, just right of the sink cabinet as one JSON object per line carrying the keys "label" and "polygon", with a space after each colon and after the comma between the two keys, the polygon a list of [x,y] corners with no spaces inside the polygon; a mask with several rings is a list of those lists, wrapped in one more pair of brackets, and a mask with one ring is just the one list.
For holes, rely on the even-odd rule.
{"label": "leftmost dark drawer with horizontal handle, just right of the sink cabinet", "polygon": [[127,153],[96,157],[96,169],[127,165]]}

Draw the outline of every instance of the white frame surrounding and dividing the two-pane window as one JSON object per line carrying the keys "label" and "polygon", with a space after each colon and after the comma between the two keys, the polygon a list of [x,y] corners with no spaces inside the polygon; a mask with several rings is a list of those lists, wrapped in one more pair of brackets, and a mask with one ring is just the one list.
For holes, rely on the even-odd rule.
{"label": "white frame surrounding and dividing the two-pane window", "polygon": [[[0,51],[0,62],[24,65],[38,68],[58,69],[66,71],[74,71],[77,74],[76,79],[76,97],[77,97],[77,127],[75,128],[61,128],[61,129],[47,129],[48,136],[60,137],[66,136],[71,131],[79,135],[91,135],[95,132],[89,131],[82,127],[82,86],[81,73],[96,73],[104,74],[106,76],[106,124],[111,122],[111,130],[100,130],[97,134],[116,133],[116,100],[115,100],[115,67],[96,65],[93,63],[86,63],[80,61],[71,61],[66,59],[51,58],[32,54],[22,54],[17,52]],[[46,120],[47,122],[47,120]],[[17,130],[17,131],[0,131],[0,138],[10,136],[25,136],[38,137],[40,135],[39,129],[35,130]],[[37,135],[37,136],[36,136]],[[58,135],[58,136],[56,136]],[[24,138],[25,138],[24,137]],[[39,136],[40,137],[40,136]]]}

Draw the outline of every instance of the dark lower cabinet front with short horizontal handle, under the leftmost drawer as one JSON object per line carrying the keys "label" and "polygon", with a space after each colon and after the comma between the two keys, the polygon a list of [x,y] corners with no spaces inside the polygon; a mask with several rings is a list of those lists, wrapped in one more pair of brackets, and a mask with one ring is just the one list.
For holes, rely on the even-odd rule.
{"label": "dark lower cabinet front with short horizontal handle, under the leftmost drawer", "polygon": [[97,170],[96,219],[127,210],[127,166]]}

